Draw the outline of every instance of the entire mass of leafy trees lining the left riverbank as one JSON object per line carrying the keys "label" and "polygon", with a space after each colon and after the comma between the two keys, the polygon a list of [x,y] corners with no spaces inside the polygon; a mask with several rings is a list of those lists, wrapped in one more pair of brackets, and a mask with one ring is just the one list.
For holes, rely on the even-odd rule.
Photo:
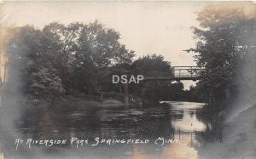
{"label": "entire mass of leafy trees lining the left riverbank", "polygon": [[131,63],[134,56],[119,43],[117,31],[97,21],[19,30],[9,41],[9,88],[33,96],[68,94],[73,89],[96,94],[102,71]]}

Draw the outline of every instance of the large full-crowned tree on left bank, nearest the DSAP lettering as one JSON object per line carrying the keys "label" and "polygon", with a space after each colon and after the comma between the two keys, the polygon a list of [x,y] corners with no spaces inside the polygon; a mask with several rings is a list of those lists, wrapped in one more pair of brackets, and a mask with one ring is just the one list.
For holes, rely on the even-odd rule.
{"label": "large full-crowned tree on left bank, nearest the DSAP lettering", "polygon": [[96,94],[102,87],[99,82],[106,80],[103,71],[109,72],[109,68],[115,65],[131,63],[135,54],[119,43],[119,38],[117,31],[105,28],[97,21],[83,26],[73,49],[76,87],[87,89],[84,91],[88,94]]}

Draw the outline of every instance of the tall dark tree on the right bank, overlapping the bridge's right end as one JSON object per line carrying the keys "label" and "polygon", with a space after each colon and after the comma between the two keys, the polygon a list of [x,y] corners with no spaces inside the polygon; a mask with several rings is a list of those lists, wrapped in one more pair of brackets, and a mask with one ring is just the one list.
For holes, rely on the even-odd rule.
{"label": "tall dark tree on the right bank, overlapping the bridge's right end", "polygon": [[188,51],[197,64],[206,68],[201,74],[207,102],[219,105],[238,94],[239,77],[255,37],[255,16],[247,15],[241,6],[210,5],[198,14],[200,26],[194,28],[199,40]]}

